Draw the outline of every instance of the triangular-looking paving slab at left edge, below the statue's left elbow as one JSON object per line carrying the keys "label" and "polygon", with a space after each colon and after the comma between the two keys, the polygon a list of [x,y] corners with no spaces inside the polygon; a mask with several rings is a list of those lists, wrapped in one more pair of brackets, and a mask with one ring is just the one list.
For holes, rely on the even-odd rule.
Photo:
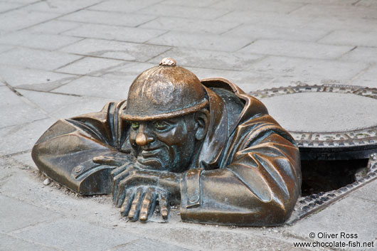
{"label": "triangular-looking paving slab at left edge, below the statue's left elbow", "polygon": [[[3,186],[6,182],[6,179],[1,179],[0,185]],[[2,196],[1,193],[0,201],[0,230],[4,233],[38,225],[38,223],[53,220],[61,216],[58,213],[20,202],[14,198]]]}

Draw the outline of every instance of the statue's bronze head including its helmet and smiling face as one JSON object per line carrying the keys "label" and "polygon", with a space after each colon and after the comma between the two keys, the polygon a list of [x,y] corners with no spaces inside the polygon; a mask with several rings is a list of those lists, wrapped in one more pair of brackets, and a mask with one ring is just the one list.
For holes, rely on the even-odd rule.
{"label": "statue's bronze head including its helmet and smiling face", "polygon": [[180,172],[206,137],[208,99],[201,82],[170,58],[141,73],[129,88],[122,119],[131,123],[129,141],[137,165]]}

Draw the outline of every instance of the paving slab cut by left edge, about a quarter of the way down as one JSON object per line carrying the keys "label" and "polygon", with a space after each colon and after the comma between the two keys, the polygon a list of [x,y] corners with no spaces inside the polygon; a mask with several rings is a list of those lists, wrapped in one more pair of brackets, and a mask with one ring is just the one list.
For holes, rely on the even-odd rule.
{"label": "paving slab cut by left edge, about a quarter of the way down", "polygon": [[15,48],[14,50],[1,53],[0,63],[32,69],[53,70],[79,58],[82,58],[82,56],[47,50]]}

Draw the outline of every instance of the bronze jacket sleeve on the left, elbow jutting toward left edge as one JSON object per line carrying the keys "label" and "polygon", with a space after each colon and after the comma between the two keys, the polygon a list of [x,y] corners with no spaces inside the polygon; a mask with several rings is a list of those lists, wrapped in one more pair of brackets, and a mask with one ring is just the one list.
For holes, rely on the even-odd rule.
{"label": "bronze jacket sleeve on the left, elbow jutting toward left edge", "polygon": [[101,112],[55,122],[31,151],[38,169],[80,194],[111,193],[110,171],[114,166],[95,164],[92,159],[115,155],[129,158],[127,146],[122,145],[127,140],[118,135],[122,130],[127,132],[127,126],[117,121],[122,103],[110,102]]}

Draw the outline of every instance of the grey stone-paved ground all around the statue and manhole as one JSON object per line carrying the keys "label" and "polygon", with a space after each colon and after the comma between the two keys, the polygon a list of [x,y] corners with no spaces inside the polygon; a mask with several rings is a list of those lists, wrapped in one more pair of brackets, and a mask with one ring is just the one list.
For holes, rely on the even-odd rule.
{"label": "grey stone-paved ground all around the statue and manhole", "polygon": [[377,1],[0,0],[0,250],[302,250],[293,242],[324,232],[356,233],[374,247],[346,249],[376,250],[376,181],[279,228],[181,223],[176,212],[127,223],[108,196],[43,186],[36,139],[60,117],[127,97],[165,56],[248,92],[377,87]]}

